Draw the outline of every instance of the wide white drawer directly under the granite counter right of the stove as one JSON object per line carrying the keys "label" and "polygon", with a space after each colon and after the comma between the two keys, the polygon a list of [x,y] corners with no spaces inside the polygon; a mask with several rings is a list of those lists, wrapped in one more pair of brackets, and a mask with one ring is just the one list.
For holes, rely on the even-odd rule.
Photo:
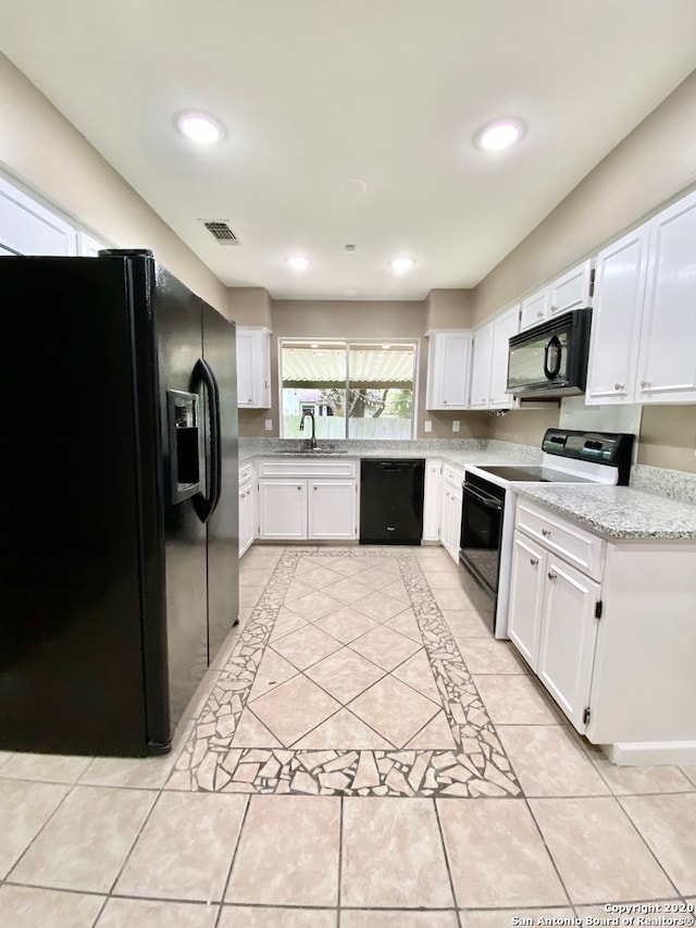
{"label": "wide white drawer directly under the granite counter right of the stove", "polygon": [[557,552],[595,580],[600,580],[605,562],[605,541],[572,522],[556,517],[526,499],[518,500],[517,527]]}

